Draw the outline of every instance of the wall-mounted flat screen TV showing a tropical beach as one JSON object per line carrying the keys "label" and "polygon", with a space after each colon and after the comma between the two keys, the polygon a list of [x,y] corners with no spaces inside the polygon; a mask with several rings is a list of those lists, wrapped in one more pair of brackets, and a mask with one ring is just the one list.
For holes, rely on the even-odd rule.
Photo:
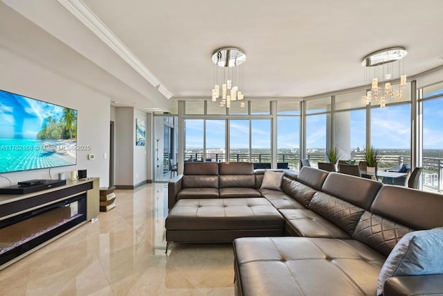
{"label": "wall-mounted flat screen TV showing a tropical beach", "polygon": [[0,90],[0,173],[77,164],[77,110]]}

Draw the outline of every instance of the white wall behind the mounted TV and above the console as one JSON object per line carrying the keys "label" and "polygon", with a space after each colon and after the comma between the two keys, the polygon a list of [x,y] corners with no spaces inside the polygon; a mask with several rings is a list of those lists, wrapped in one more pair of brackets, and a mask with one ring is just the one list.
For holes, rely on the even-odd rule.
{"label": "white wall behind the mounted TV and above the console", "polygon": [[[74,80],[61,76],[41,64],[0,46],[0,89],[23,96],[37,98],[78,110],[78,146],[91,146],[91,150],[79,150],[76,166],[52,168],[57,173],[87,169],[89,177],[100,177],[100,187],[109,184],[109,101],[110,98]],[[96,159],[88,160],[94,154]],[[0,155],[1,157],[1,155]],[[12,184],[22,180],[48,179],[48,169],[2,174]],[[0,186],[9,182],[0,178]]]}

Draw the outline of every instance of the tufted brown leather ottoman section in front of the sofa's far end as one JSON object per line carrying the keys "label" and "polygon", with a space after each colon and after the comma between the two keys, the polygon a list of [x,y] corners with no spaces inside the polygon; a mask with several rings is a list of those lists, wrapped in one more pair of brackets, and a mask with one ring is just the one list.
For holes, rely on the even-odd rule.
{"label": "tufted brown leather ottoman section in front of the sofa's far end", "polygon": [[166,252],[176,243],[229,243],[244,236],[282,236],[284,220],[266,198],[179,200],[165,221]]}

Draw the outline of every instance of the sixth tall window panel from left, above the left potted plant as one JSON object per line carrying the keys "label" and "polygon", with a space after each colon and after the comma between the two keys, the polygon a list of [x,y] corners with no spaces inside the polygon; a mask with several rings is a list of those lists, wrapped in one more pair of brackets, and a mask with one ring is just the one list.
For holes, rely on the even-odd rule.
{"label": "sixth tall window panel from left, above the left potted plant", "polygon": [[331,114],[331,97],[306,102],[306,156],[311,166],[325,162],[327,119]]}

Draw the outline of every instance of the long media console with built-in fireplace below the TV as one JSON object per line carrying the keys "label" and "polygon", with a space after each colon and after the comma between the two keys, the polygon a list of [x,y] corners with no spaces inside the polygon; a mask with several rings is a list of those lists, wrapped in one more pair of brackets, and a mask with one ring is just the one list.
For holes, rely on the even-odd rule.
{"label": "long media console with built-in fireplace below the TV", "polygon": [[98,178],[26,194],[0,195],[0,270],[98,217]]}

